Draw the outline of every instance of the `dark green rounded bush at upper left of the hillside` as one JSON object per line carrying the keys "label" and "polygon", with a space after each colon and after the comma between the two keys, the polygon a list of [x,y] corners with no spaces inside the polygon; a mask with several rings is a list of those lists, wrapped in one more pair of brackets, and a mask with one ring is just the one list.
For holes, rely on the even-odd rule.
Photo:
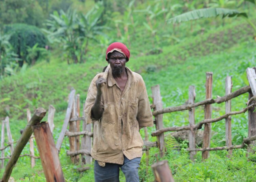
{"label": "dark green rounded bush at upper left of the hillside", "polygon": [[[44,48],[47,44],[46,37],[36,26],[27,24],[10,24],[5,26],[4,32],[11,34],[9,42],[13,47],[13,51],[20,58],[20,67],[22,67],[23,62],[27,58],[28,47],[32,48],[36,43],[38,43],[39,48]],[[35,59],[38,59],[38,57],[39,55]]]}

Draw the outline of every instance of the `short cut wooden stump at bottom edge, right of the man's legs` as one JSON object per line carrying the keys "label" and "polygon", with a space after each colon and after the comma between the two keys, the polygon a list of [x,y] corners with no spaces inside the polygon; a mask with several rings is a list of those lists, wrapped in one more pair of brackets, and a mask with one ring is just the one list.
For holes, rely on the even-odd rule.
{"label": "short cut wooden stump at bottom edge, right of the man's legs", "polygon": [[151,167],[154,171],[156,182],[174,182],[168,161],[159,161]]}

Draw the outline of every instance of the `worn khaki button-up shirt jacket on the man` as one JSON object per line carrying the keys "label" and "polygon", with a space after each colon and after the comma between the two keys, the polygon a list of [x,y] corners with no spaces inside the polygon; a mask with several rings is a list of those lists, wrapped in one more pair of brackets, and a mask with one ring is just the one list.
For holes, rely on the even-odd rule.
{"label": "worn khaki button-up shirt jacket on the man", "polygon": [[141,75],[126,67],[128,79],[123,93],[116,83],[111,69],[107,84],[101,87],[102,117],[96,121],[91,116],[95,102],[97,74],[91,81],[85,102],[85,121],[94,124],[94,139],[91,156],[100,162],[123,164],[124,155],[129,159],[142,157],[143,140],[139,129],[153,126],[153,116],[148,101],[145,83]]}

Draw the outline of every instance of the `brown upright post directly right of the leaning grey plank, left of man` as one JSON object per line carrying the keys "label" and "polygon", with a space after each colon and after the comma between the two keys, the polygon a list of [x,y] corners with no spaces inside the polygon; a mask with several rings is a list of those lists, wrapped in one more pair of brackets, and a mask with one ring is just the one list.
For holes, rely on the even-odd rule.
{"label": "brown upright post directly right of the leaning grey plank, left of man", "polygon": [[[75,109],[75,96],[73,97],[73,105],[72,105],[72,111],[71,111],[71,118],[75,118],[76,115],[76,109]],[[74,121],[69,122],[69,131],[70,132],[76,132],[76,123]],[[76,141],[75,136],[69,136],[69,150],[71,152],[74,152],[76,150]],[[72,163],[76,163],[76,157],[70,157]]]}

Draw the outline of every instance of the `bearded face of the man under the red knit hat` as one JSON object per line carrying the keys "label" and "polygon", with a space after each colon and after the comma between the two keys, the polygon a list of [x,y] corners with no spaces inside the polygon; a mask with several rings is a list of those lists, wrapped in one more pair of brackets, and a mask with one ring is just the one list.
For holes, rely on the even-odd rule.
{"label": "bearded face of the man under the red knit hat", "polygon": [[114,51],[109,54],[108,63],[110,64],[113,75],[118,76],[125,70],[126,58],[122,53]]}

